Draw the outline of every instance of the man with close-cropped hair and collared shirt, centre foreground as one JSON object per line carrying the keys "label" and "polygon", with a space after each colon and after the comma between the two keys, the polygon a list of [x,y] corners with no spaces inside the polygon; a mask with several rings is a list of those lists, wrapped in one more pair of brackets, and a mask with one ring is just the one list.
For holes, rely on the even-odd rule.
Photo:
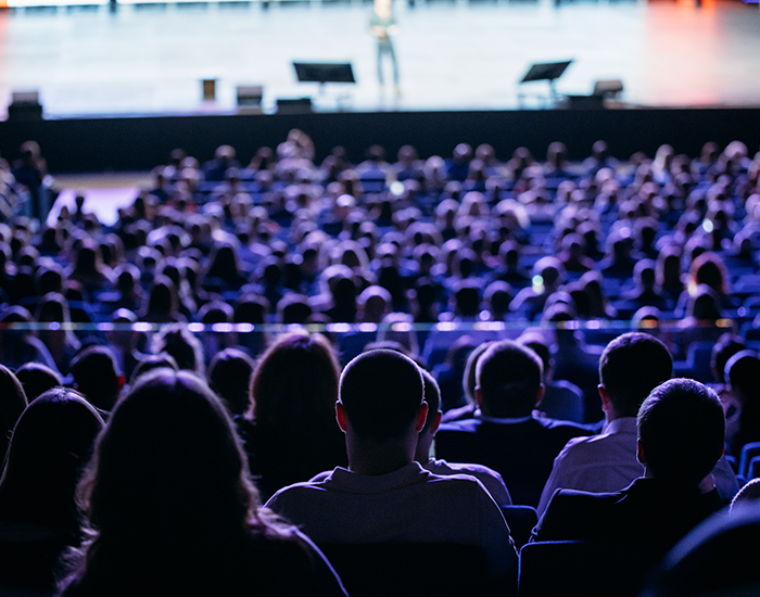
{"label": "man with close-cropped hair and collared shirt, centre foreground", "polygon": [[335,405],[349,469],[277,492],[267,507],[317,544],[455,543],[483,548],[493,579],[517,563],[509,529],[470,477],[439,477],[415,461],[425,427],[422,374],[394,351],[370,351],[343,370]]}

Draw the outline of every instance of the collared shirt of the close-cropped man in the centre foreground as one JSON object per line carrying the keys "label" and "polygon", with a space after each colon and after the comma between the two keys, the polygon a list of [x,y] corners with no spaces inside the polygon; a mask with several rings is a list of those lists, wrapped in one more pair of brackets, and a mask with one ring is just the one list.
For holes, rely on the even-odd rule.
{"label": "collared shirt of the close-cropped man in the centre foreground", "polygon": [[439,477],[419,462],[388,474],[343,468],[277,492],[266,507],[320,543],[459,543],[485,551],[492,576],[517,561],[509,528],[471,477]]}

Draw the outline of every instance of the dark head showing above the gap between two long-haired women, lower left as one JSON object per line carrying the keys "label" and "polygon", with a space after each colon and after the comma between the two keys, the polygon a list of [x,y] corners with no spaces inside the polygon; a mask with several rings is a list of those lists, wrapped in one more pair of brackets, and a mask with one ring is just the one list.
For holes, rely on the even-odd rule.
{"label": "dark head showing above the gap between two long-haired women, lower left", "polygon": [[116,357],[106,346],[90,346],[72,360],[76,389],[96,408],[110,411],[124,385]]}

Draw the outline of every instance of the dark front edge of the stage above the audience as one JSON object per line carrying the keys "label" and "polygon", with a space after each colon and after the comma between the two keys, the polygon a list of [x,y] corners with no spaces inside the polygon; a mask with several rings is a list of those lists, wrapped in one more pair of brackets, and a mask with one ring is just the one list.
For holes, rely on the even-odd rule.
{"label": "dark front edge of the stage above the audience", "polygon": [[259,147],[276,148],[292,128],[314,139],[317,160],[343,145],[354,162],[375,143],[389,158],[407,143],[422,157],[447,157],[467,142],[492,144],[499,160],[523,145],[540,161],[553,141],[565,142],[571,160],[587,156],[598,139],[619,158],[637,151],[654,157],[662,143],[689,156],[707,141],[743,141],[750,156],[760,149],[760,107],[731,107],[11,118],[0,122],[0,156],[13,160],[21,143],[35,140],[53,174],[149,170],[176,148],[205,161],[220,144],[235,147],[246,162]]}

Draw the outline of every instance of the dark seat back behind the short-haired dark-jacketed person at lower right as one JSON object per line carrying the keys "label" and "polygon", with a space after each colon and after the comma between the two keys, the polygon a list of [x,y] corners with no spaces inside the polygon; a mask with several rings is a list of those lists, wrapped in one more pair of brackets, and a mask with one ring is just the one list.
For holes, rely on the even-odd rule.
{"label": "dark seat back behind the short-haired dark-jacketed person at lower right", "polygon": [[633,597],[670,545],[558,541],[520,550],[520,597]]}

